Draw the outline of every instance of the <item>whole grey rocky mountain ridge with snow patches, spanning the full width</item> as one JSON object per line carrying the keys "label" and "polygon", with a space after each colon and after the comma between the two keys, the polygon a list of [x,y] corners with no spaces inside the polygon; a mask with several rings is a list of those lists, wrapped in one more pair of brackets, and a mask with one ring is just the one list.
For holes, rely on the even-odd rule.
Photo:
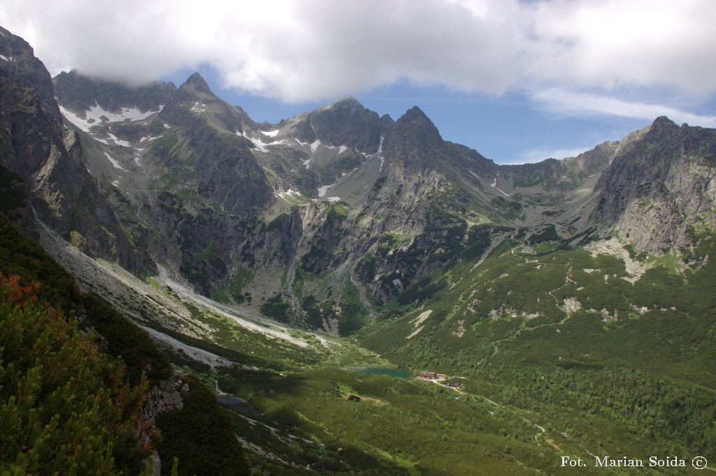
{"label": "whole grey rocky mountain ridge with snow patches, spanning the full width", "polygon": [[347,98],[257,124],[199,74],[137,88],[72,71],[53,86],[2,34],[0,163],[38,217],[88,254],[139,273],[165,263],[279,320],[352,332],[479,259],[485,233],[564,246],[616,234],[658,255],[712,227],[712,129],[659,118],[579,157],[502,166],[445,142],[417,106],[393,121]]}

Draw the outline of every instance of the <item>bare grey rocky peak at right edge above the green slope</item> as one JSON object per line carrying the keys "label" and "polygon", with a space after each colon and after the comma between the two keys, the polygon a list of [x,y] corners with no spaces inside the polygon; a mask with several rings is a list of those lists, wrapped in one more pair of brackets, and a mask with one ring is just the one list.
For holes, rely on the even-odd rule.
{"label": "bare grey rocky peak at right edge above the green slope", "polygon": [[666,117],[629,134],[595,187],[594,219],[653,254],[690,243],[716,202],[716,131]]}

